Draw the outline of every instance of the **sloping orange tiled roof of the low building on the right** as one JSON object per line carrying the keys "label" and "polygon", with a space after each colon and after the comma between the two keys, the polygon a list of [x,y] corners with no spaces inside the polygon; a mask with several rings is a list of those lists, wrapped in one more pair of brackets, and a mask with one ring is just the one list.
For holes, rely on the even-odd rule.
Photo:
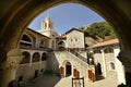
{"label": "sloping orange tiled roof of the low building on the right", "polygon": [[114,44],[118,44],[118,42],[119,42],[118,39],[111,39],[111,40],[107,40],[107,41],[104,41],[104,42],[98,42],[98,44],[92,46],[91,48],[103,47],[103,46],[114,45]]}

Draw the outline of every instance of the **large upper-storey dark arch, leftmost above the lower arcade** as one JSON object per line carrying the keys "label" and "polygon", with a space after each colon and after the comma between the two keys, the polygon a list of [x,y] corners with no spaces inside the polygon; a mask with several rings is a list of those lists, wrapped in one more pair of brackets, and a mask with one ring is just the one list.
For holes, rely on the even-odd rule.
{"label": "large upper-storey dark arch, leftmost above the lower arcade", "polygon": [[20,46],[21,47],[32,47],[32,40],[27,35],[23,35],[21,41],[20,41]]}

